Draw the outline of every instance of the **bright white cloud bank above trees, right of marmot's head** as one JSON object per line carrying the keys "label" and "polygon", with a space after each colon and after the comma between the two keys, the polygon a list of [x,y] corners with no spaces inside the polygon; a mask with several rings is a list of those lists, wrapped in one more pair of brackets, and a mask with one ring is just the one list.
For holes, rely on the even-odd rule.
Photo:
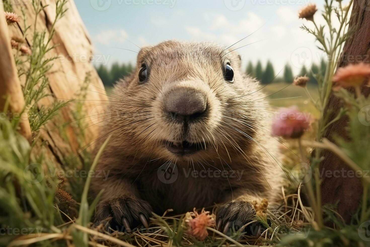
{"label": "bright white cloud bank above trees, right of marmot's head", "polygon": [[[294,72],[298,73],[301,67],[296,66],[293,56],[297,49],[306,52],[302,54],[302,59],[307,58],[305,60],[307,68],[313,62],[317,63],[322,52],[316,48],[314,37],[300,29],[305,21],[298,19],[296,11],[291,7],[282,7],[277,13],[280,13],[280,18],[274,23],[266,23],[265,26],[265,19],[262,16],[249,12],[238,22],[231,22],[224,15],[214,15],[208,21],[208,28],[185,26],[185,30],[197,41],[212,41],[230,46],[262,27],[232,47],[232,49],[241,47],[236,52],[242,57],[243,66],[248,61],[256,63],[256,60],[261,60],[265,66],[266,61],[270,60],[275,66],[275,73],[283,69],[286,63],[289,63]],[[259,42],[254,43],[255,41]],[[247,44],[250,45],[246,46]]]}

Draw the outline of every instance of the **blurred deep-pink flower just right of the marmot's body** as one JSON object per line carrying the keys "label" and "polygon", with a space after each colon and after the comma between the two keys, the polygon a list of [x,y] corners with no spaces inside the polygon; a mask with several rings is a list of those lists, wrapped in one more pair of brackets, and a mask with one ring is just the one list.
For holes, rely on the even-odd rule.
{"label": "blurred deep-pink flower just right of the marmot's body", "polygon": [[310,126],[310,117],[296,107],[282,109],[272,124],[272,133],[284,138],[299,138]]}

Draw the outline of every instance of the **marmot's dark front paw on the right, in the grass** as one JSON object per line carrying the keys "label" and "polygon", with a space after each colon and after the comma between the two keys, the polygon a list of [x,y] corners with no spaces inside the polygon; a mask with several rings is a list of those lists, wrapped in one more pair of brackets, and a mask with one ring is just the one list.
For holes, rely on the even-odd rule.
{"label": "marmot's dark front paw on the right, in the grass", "polygon": [[[227,234],[232,228],[238,230],[252,221],[256,211],[248,201],[233,200],[222,205],[216,213],[217,229]],[[253,230],[253,229],[252,229]]]}

